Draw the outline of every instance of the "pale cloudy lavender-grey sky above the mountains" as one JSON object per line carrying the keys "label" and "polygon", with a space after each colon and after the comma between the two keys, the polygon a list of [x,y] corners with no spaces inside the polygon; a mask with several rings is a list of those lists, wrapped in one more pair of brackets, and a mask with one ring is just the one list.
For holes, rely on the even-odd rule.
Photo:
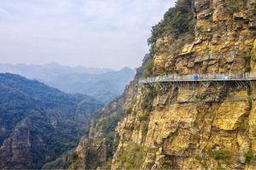
{"label": "pale cloudy lavender-grey sky above the mountains", "polygon": [[121,69],[141,65],[174,0],[1,0],[0,62]]}

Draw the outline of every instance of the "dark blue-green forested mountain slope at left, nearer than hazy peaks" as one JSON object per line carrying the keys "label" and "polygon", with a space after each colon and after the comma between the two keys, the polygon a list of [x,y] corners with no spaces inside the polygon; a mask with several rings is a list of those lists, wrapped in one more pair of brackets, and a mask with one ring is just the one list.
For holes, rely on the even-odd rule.
{"label": "dark blue-green forested mountain slope at left, nearer than hazy peaks", "polygon": [[79,142],[102,104],[42,82],[0,74],[0,169],[38,169]]}

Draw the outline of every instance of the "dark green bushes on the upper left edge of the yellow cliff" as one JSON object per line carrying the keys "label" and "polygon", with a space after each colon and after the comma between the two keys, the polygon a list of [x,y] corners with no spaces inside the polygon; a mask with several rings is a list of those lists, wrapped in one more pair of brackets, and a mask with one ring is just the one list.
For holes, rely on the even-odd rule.
{"label": "dark green bushes on the upper left edge of the yellow cliff", "polygon": [[[149,77],[154,72],[154,54],[156,49],[156,42],[160,38],[170,37],[177,43],[175,50],[170,53],[178,54],[184,43],[191,41],[194,37],[195,19],[193,14],[192,0],[178,0],[175,7],[169,8],[156,26],[153,26],[151,37],[148,38],[148,45],[150,46],[150,53],[143,59],[143,77]],[[183,39],[183,41],[177,41]]]}

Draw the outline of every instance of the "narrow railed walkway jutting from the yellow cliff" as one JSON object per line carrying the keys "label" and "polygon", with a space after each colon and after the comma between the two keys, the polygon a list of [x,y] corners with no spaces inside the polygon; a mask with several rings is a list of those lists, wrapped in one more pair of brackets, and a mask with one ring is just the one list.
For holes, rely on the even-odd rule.
{"label": "narrow railed walkway jutting from the yellow cliff", "polygon": [[223,81],[256,81],[256,73],[230,73],[230,74],[169,74],[161,77],[148,77],[140,79],[139,83],[151,82],[223,82]]}

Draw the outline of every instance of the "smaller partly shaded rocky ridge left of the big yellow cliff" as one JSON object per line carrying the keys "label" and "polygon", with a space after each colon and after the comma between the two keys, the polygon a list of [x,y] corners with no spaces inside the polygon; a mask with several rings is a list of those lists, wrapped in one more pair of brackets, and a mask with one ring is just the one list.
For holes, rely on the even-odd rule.
{"label": "smaller partly shaded rocky ridge left of the big yellow cliff", "polygon": [[111,103],[96,111],[90,130],[80,139],[79,145],[55,161],[44,165],[44,169],[110,169],[114,151],[119,144],[115,127],[131,113],[136,103],[138,75],[125,88],[124,93]]}

